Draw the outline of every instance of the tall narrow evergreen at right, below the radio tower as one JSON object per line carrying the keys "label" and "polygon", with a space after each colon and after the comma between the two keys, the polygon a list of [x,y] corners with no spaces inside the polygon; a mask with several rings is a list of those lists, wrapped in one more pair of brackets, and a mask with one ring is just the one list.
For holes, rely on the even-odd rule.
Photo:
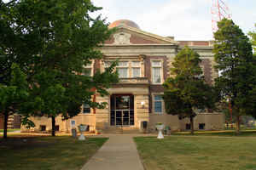
{"label": "tall narrow evergreen at right, below the radio tower", "polygon": [[[230,111],[236,116],[236,133],[240,133],[240,116],[249,114],[255,82],[255,59],[249,39],[232,20],[218,22],[213,47],[216,69],[221,72],[215,79],[220,97],[230,102]],[[253,82],[254,81],[254,82]]]}

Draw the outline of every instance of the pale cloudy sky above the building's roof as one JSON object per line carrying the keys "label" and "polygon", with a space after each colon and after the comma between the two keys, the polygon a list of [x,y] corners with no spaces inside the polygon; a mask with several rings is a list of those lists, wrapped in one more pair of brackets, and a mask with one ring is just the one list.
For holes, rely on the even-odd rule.
{"label": "pale cloudy sky above the building's roof", "polygon": [[[242,31],[255,31],[256,0],[223,0]],[[132,20],[143,31],[175,40],[212,40],[212,0],[92,0],[109,23]]]}

